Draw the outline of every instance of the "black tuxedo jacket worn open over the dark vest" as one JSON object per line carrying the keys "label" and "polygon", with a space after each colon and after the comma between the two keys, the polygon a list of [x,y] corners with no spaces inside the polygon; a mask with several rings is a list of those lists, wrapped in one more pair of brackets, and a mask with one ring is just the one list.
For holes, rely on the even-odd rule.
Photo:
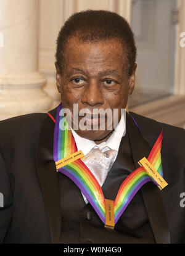
{"label": "black tuxedo jacket worn open over the dark vest", "polygon": [[[136,168],[163,130],[162,166],[168,186],[160,191],[154,183],[146,183],[142,199],[155,242],[184,243],[185,208],[180,195],[185,192],[185,131],[134,113],[126,114],[126,124]],[[47,114],[23,115],[1,121],[0,134],[0,192],[4,196],[0,242],[60,242],[59,180],[51,150],[54,122]]]}

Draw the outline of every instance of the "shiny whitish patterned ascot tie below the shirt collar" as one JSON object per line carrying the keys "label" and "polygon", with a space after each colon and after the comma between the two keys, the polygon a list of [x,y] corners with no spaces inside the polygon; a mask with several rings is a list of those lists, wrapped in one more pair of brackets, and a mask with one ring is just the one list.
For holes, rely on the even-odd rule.
{"label": "shiny whitish patterned ascot tie below the shirt collar", "polygon": [[[108,149],[108,150],[107,150]],[[109,149],[109,147],[105,147],[102,151],[99,148],[93,148],[89,151],[88,154],[85,155],[85,159],[83,162],[95,176],[96,180],[102,186],[104,184],[105,178],[112,167],[115,159],[117,158],[118,152],[114,149]],[[82,193],[83,194],[83,193]],[[83,198],[87,203],[88,200],[86,197]]]}

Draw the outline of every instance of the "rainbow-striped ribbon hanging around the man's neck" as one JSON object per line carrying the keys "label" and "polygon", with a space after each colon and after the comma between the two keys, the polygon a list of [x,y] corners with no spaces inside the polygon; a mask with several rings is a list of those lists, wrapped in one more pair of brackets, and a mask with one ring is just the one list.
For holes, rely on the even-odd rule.
{"label": "rainbow-striped ribbon hanging around the man's neck", "polygon": [[[50,115],[50,114],[49,114]],[[51,115],[50,115],[51,116]],[[64,118],[64,119],[63,119]],[[60,122],[65,124],[65,129],[60,129]],[[152,148],[147,160],[155,167],[155,170],[162,173],[162,160],[160,149],[162,146],[162,132]],[[57,118],[55,120],[54,131],[54,161],[57,162],[70,154],[77,151],[75,139],[72,131],[68,128],[68,123],[62,114],[62,104],[57,108]],[[102,222],[105,223],[105,199],[101,186],[92,175],[89,168],[81,159],[68,163],[58,169],[61,173],[68,176],[83,192],[86,199],[92,205]],[[147,182],[154,180],[147,174],[144,167],[134,170],[120,186],[117,197],[114,200],[115,224],[125,211],[139,189]]]}

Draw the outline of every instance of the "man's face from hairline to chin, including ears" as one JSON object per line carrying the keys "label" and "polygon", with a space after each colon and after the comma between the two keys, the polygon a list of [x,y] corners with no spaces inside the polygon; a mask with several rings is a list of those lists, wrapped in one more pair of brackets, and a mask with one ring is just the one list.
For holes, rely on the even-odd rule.
{"label": "man's face from hairline to chin, including ears", "polygon": [[[57,67],[57,88],[59,89],[62,105],[72,112],[73,104],[78,104],[79,112],[88,109],[92,114],[94,109],[126,108],[128,94],[133,93],[134,73],[128,78],[128,61],[123,46],[115,39],[102,40],[99,43],[82,42],[77,38],[68,40],[65,51],[65,65],[60,75]],[[81,118],[79,117],[79,122]],[[115,119],[115,116],[112,120]],[[99,123],[101,117],[94,119],[90,116],[86,122]],[[112,133],[107,128],[105,116],[105,130],[76,130],[83,138],[96,141],[97,144],[106,141]]]}

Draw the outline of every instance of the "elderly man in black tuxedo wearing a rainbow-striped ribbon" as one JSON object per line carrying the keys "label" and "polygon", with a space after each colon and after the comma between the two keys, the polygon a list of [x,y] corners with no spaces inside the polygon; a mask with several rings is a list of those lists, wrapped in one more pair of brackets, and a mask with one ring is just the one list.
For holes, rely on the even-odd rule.
{"label": "elderly man in black tuxedo wearing a rainbow-striped ribbon", "polygon": [[[65,22],[55,62],[62,104],[0,123],[1,242],[185,241],[185,133],[134,113],[125,120],[135,60],[123,17],[88,10]],[[113,113],[104,129],[94,110]],[[143,157],[155,175],[139,167]]]}

